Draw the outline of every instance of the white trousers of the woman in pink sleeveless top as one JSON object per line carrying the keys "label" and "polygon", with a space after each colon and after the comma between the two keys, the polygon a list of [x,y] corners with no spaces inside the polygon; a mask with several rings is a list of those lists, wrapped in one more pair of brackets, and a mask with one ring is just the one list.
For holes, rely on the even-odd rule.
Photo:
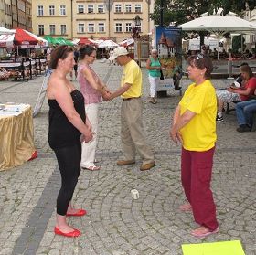
{"label": "white trousers of the woman in pink sleeveless top", "polygon": [[82,167],[90,167],[94,165],[98,134],[98,109],[99,103],[90,103],[85,105],[86,118],[91,122],[91,129],[95,134],[93,135],[90,143],[81,143],[80,165]]}

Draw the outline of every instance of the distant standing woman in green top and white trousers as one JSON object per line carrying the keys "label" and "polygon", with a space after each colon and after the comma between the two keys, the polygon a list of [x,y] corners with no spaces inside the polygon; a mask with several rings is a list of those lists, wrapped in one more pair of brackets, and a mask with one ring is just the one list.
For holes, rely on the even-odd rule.
{"label": "distant standing woman in green top and white trousers", "polygon": [[146,61],[146,69],[148,69],[148,80],[150,84],[150,102],[155,104],[157,101],[155,100],[156,96],[156,87],[159,83],[159,78],[161,76],[160,70],[161,63],[158,59],[158,52],[156,48],[151,50],[151,58],[148,58]]}

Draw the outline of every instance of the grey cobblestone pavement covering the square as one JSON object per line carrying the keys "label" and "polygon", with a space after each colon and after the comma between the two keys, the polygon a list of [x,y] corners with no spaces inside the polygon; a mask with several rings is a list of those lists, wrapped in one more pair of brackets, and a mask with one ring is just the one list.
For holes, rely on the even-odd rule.
{"label": "grey cobblestone pavement covering the square", "polygon": [[[119,86],[122,68],[96,62],[93,66],[108,86]],[[0,254],[169,254],[181,255],[185,243],[240,240],[246,255],[256,254],[256,133],[237,133],[234,112],[218,123],[212,189],[217,203],[219,234],[196,239],[189,232],[196,224],[189,213],[180,213],[184,200],[180,175],[180,147],[168,137],[171,114],[180,100],[178,92],[158,103],[148,103],[144,74],[144,128],[155,149],[156,166],[148,172],[136,165],[117,166],[120,144],[121,100],[103,102],[97,159],[101,171],[82,170],[74,194],[76,207],[88,210],[69,223],[82,231],[78,239],[55,236],[55,200],[59,170],[48,147],[48,104],[34,118],[37,159],[0,172]],[[35,106],[44,78],[1,81],[0,101]],[[77,84],[77,82],[75,81]],[[183,80],[186,88],[189,80]],[[216,88],[229,80],[213,80]],[[133,200],[131,189],[139,191]],[[218,255],[218,254],[216,254]]]}

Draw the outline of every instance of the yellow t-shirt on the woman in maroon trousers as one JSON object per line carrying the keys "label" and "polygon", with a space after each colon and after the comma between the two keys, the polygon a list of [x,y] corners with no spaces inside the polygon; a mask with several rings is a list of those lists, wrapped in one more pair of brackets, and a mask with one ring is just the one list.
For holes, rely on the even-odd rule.
{"label": "yellow t-shirt on the woman in maroon trousers", "polygon": [[180,114],[186,110],[197,113],[181,130],[183,147],[188,151],[203,152],[213,148],[217,140],[217,98],[210,80],[192,83],[179,102]]}

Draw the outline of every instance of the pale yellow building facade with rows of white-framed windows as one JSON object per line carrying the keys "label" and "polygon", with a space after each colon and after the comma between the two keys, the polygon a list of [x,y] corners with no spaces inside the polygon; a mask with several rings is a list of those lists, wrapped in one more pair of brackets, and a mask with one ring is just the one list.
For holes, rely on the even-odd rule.
{"label": "pale yellow building facade with rows of white-framed windows", "polygon": [[108,37],[116,42],[131,37],[134,18],[141,33],[151,32],[147,0],[33,0],[33,31],[39,36],[68,39]]}

